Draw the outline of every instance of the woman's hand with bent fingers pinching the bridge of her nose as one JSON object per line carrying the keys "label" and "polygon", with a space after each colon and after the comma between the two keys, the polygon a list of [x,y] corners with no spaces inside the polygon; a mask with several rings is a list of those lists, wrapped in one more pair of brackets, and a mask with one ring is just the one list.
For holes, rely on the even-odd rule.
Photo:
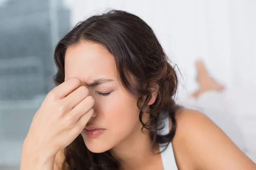
{"label": "woman's hand with bent fingers pinching the bridge of her nose", "polygon": [[93,115],[93,105],[81,80],[73,77],[63,82],[47,94],[35,113],[24,145],[55,156],[82,132]]}

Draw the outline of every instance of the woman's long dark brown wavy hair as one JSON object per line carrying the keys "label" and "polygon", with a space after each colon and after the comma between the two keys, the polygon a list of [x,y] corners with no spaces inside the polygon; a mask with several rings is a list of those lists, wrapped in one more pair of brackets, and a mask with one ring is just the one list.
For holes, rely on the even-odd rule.
{"label": "woman's long dark brown wavy hair", "polygon": [[[82,41],[99,43],[113,55],[120,82],[130,94],[138,97],[138,119],[149,132],[152,150],[158,144],[166,144],[167,147],[176,131],[175,112],[179,107],[175,105],[173,98],[178,80],[175,68],[170,65],[150,26],[140,17],[119,10],[106,11],[78,23],[55,48],[54,60],[58,68],[54,76],[55,85],[64,82],[64,57],[67,48]],[[151,82],[157,83],[159,88],[150,111],[145,112],[151,99]],[[142,120],[144,113],[150,115],[148,122]],[[164,127],[164,116],[169,116],[172,128],[167,135],[161,136],[157,131]],[[65,148],[64,154],[63,170],[119,169],[119,162],[109,151],[90,152],[81,135]]]}

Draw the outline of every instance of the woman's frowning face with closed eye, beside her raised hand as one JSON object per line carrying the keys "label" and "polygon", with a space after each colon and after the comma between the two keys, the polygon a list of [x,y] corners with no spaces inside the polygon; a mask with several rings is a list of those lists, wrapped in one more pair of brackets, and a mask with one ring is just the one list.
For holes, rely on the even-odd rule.
{"label": "woman's frowning face with closed eye, beside her raised hand", "polygon": [[[81,133],[90,151],[110,150],[141,129],[137,98],[122,87],[114,58],[102,45],[84,41],[67,48],[65,80],[71,77],[86,83],[95,100],[93,117],[85,127],[88,130]],[[99,85],[90,85],[94,81]]]}

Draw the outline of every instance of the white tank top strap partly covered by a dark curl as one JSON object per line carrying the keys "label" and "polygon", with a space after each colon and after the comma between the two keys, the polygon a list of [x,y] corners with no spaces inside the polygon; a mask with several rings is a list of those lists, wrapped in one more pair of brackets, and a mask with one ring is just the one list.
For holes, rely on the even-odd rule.
{"label": "white tank top strap partly covered by a dark curl", "polygon": [[[169,133],[169,116],[167,118],[163,119],[163,121],[165,123],[165,127],[158,132],[160,135],[165,135],[165,134]],[[165,145],[159,144],[159,147],[160,147],[160,151],[162,151],[162,150],[164,150]],[[164,150],[161,153],[161,159],[163,162],[164,170],[178,170],[178,167],[177,167],[177,164],[175,161],[175,157],[174,157],[172,143],[170,143],[168,145],[168,147],[166,148],[166,150]]]}

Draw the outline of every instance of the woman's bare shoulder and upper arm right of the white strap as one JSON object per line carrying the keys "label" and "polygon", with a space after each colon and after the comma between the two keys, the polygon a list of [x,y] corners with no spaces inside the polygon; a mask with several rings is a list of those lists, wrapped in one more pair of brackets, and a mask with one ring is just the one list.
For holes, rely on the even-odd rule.
{"label": "woman's bare shoulder and upper arm right of the white strap", "polygon": [[256,169],[256,164],[203,113],[182,109],[177,113],[176,121],[172,145],[178,162],[188,159],[192,169]]}

